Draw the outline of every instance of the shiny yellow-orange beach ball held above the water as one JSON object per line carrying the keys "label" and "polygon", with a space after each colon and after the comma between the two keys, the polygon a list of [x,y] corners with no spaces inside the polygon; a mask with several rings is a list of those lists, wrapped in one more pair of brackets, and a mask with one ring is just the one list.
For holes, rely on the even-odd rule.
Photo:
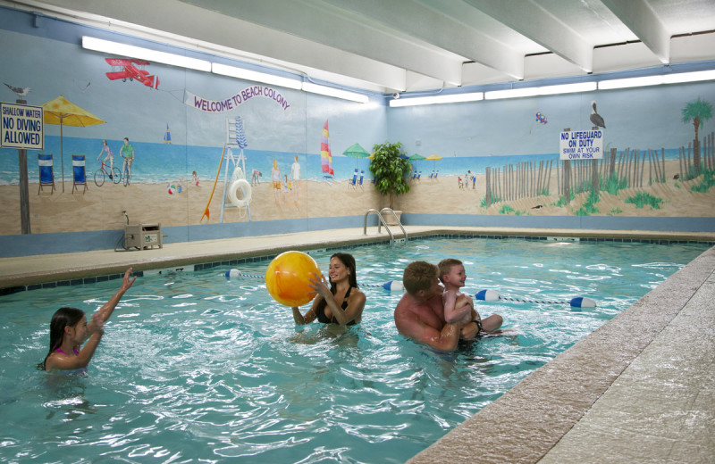
{"label": "shiny yellow-orange beach ball held above the water", "polygon": [[265,270],[265,286],[276,302],[286,306],[302,306],[315,298],[310,279],[320,277],[315,260],[302,252],[281,253]]}

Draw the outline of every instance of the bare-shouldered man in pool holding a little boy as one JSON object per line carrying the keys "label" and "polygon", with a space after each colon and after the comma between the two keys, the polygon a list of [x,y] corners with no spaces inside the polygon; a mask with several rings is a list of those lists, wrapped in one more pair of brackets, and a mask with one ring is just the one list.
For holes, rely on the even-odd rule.
{"label": "bare-shouldered man in pool holding a little boy", "polygon": [[[475,322],[445,322],[443,289],[438,272],[437,266],[429,262],[413,261],[408,264],[402,276],[406,292],[397,303],[394,318],[402,336],[446,352],[457,348],[460,335],[472,339],[480,329]],[[461,299],[458,304],[470,302]]]}

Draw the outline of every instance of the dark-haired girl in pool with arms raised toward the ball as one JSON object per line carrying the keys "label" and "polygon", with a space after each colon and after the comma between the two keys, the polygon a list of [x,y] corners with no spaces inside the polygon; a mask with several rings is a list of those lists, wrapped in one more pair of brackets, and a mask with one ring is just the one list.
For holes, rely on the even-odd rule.
{"label": "dark-haired girl in pool with arms raised toward the ball", "polygon": [[[84,311],[77,308],[60,308],[55,311],[50,322],[50,350],[42,362],[42,369],[86,369],[89,360],[97,350],[97,345],[105,333],[105,320],[112,316],[114,308],[124,293],[137,279],[130,278],[131,268],[124,273],[122,286],[87,323]],[[88,343],[80,350],[81,344]]]}

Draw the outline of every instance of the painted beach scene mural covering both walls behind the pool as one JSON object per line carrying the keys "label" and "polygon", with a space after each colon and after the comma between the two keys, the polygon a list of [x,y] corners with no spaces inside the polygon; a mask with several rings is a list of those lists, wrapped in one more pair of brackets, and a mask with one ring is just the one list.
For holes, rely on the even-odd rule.
{"label": "painted beach scene mural covering both walls behind the pool", "polygon": [[[386,205],[368,158],[386,140],[414,168],[395,200],[405,212],[715,215],[713,83],[390,108],[97,54],[77,45],[84,33],[50,18],[0,29],[0,99],[47,105],[44,148],[27,157],[33,234],[116,230],[127,217],[361,216]],[[58,95],[78,114],[47,120]],[[565,131],[598,132],[597,156],[562,159]],[[21,233],[20,178],[18,151],[0,149],[3,236]]]}

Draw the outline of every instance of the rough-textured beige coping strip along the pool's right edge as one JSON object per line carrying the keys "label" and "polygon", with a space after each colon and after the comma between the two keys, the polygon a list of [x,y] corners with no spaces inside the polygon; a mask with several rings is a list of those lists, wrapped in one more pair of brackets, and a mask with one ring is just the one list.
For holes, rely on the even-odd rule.
{"label": "rough-textured beige coping strip along the pool's right edge", "polygon": [[[702,290],[703,284],[712,274],[715,246],[408,463],[542,460],[669,326],[694,294],[706,291]],[[711,301],[715,301],[715,294]]]}

